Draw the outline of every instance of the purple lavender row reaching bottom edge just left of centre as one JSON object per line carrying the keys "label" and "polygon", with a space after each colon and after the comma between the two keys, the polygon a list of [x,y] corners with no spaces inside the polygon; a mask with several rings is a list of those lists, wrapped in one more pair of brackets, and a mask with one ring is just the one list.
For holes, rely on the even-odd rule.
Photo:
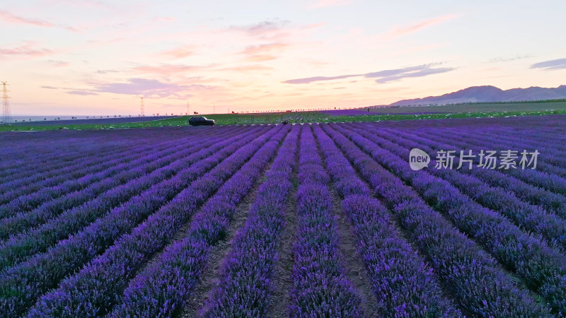
{"label": "purple lavender row reaching bottom edge just left of centre", "polygon": [[293,126],[265,174],[243,229],[221,269],[219,285],[204,305],[205,317],[265,317],[281,240],[287,196],[293,188],[300,126]]}

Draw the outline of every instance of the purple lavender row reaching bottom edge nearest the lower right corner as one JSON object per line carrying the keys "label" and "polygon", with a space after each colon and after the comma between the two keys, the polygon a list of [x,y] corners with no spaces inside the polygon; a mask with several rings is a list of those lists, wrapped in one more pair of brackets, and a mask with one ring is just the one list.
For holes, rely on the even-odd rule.
{"label": "purple lavender row reaching bottom edge nearest the lower right corner", "polygon": [[[329,125],[323,130],[335,141],[355,169],[371,184],[410,239],[444,282],[463,314],[482,317],[548,317],[529,293],[518,288],[495,259],[432,210],[410,187],[378,165],[358,146]],[[371,143],[361,137],[361,145]],[[374,147],[375,148],[375,147]]]}

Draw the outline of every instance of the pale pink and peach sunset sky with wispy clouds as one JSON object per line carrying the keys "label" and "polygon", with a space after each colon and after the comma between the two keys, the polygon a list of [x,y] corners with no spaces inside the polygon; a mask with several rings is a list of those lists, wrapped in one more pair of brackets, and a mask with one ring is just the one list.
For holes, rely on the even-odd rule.
{"label": "pale pink and peach sunset sky with wispy clouds", "polygon": [[[160,4],[161,2],[161,4]],[[12,114],[382,105],[566,84],[566,1],[0,4]]]}

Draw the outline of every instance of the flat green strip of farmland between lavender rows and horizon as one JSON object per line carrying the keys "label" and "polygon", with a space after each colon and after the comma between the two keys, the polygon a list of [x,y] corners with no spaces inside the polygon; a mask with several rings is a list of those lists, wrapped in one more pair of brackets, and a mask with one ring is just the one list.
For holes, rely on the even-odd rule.
{"label": "flat green strip of farmland between lavender rows and horizon", "polygon": [[[264,112],[244,114],[204,114],[218,125],[279,124],[311,122],[379,122],[418,119],[519,117],[566,114],[566,102],[505,102],[485,104],[456,104],[420,107],[359,108],[301,112]],[[198,114],[196,116],[202,116]],[[122,117],[103,119],[74,119],[46,122],[0,124],[0,131],[44,131],[59,129],[125,129],[161,126],[187,126],[190,116]]]}

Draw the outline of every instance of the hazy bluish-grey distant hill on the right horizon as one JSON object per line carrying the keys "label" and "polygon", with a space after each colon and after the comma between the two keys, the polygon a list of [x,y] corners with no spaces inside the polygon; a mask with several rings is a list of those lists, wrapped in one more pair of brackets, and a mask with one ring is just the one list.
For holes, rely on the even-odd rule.
{"label": "hazy bluish-grey distant hill on the right horizon", "polygon": [[473,86],[457,92],[413,100],[400,100],[391,106],[458,104],[462,102],[519,102],[528,100],[558,100],[566,98],[566,85],[557,88],[512,88],[502,90],[495,86]]}

